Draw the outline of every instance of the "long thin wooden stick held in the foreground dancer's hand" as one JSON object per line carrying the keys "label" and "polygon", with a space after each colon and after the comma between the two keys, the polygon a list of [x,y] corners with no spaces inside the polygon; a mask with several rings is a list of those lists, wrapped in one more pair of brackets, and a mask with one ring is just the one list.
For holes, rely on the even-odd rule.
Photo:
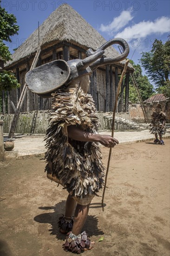
{"label": "long thin wooden stick held in the foreground dancer's hand", "polygon": [[[123,72],[121,74],[121,77],[120,77],[120,81],[118,83],[118,91],[117,91],[117,94],[116,94],[116,101],[115,101],[115,106],[114,106],[114,110],[113,110],[111,137],[113,137],[113,135],[114,135],[115,113],[116,113],[116,107],[117,107],[117,104],[118,104],[118,94],[119,94],[120,87],[121,87],[121,84],[122,84],[122,81],[123,81],[123,78],[124,78],[124,74],[126,73],[128,63],[129,63],[129,60],[127,59],[125,65],[124,65],[124,70],[123,70]],[[106,188],[106,183],[107,183],[107,175],[108,175],[108,172],[109,172],[109,166],[110,166],[110,161],[111,161],[111,150],[112,150],[112,148],[110,148],[110,151],[109,151],[109,159],[108,159],[107,170],[106,170],[106,175],[105,175],[105,186],[104,186],[103,196],[102,196],[102,209],[103,209],[103,211],[104,211],[104,196],[105,196],[105,188]]]}

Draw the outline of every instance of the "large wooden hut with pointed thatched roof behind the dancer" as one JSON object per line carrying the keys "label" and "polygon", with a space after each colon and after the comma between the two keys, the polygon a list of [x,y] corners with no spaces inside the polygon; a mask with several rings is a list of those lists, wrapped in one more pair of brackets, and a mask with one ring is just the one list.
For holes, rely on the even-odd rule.
{"label": "large wooden hut with pointed thatched roof behind the dancer", "polygon": [[[13,104],[16,106],[24,85],[26,72],[29,71],[34,56],[41,44],[41,53],[37,66],[47,62],[63,59],[84,59],[88,48],[96,50],[106,40],[68,4],[63,4],[37,28],[29,38],[17,48],[12,55],[13,61],[8,61],[6,70],[12,70],[21,84],[19,89],[8,93],[8,114],[14,113]],[[105,50],[107,57],[118,56],[118,52],[109,47]],[[122,73],[125,61],[114,65],[105,65],[96,69],[91,76],[90,93],[96,108],[99,111],[112,111],[115,101],[115,92],[118,86],[118,74]],[[128,111],[129,74],[134,71],[129,64],[126,79],[122,84],[119,101],[119,112]],[[125,88],[125,103],[124,103]],[[11,104],[12,101],[12,104]],[[46,104],[45,104],[46,103]],[[51,108],[51,99],[42,99],[37,94],[27,91],[21,112],[33,110],[46,110]]]}

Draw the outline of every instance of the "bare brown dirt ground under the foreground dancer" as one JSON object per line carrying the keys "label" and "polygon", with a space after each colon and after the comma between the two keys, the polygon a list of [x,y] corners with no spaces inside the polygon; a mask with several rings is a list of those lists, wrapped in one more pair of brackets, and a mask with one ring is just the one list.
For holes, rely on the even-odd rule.
{"label": "bare brown dirt ground under the foreground dancer", "polygon": [[[95,248],[84,255],[170,255],[170,139],[164,142],[112,149],[104,212],[95,197],[83,229]],[[106,166],[109,149],[102,153]],[[57,225],[67,192],[46,178],[45,162],[32,156],[0,167],[0,256],[71,256]]]}

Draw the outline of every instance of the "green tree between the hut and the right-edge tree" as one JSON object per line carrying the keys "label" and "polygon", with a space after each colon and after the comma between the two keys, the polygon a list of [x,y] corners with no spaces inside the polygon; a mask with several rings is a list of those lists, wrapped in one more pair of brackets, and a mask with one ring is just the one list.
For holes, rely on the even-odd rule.
{"label": "green tree between the hut and the right-edge tree", "polygon": [[[154,94],[153,86],[150,84],[148,77],[142,74],[141,66],[139,64],[136,65],[134,61],[131,60],[130,63],[135,68],[133,75],[137,82],[137,86],[139,88],[142,100],[145,101]],[[131,77],[129,81],[129,101],[131,101],[132,103],[137,103],[137,101],[139,101],[136,88],[132,82]]]}

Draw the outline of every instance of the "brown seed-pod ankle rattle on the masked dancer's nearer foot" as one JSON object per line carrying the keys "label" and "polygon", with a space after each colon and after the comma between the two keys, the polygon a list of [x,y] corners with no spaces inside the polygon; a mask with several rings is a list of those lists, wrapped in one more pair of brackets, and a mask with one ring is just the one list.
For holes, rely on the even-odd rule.
{"label": "brown seed-pod ankle rattle on the masked dancer's nearer foot", "polygon": [[77,252],[78,254],[81,253],[81,251],[84,251],[86,249],[89,249],[92,245],[91,240],[87,238],[87,235],[85,231],[83,231],[78,236],[75,236],[72,234],[72,231],[70,231],[66,236],[66,242],[63,244],[63,249],[65,251],[71,251],[71,252]]}

